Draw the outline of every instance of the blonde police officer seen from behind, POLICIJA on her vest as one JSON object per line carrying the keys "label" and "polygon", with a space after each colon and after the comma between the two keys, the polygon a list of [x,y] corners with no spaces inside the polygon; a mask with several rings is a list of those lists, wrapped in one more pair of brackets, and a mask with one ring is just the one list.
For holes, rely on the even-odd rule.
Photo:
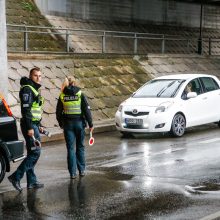
{"label": "blonde police officer seen from behind, POLICIJA on her vest", "polygon": [[[85,127],[89,124],[93,130],[90,106],[81,89],[75,86],[72,78],[66,78],[57,102],[56,117],[61,128],[67,147],[67,165],[70,178],[76,178],[76,169],[79,175],[85,175]],[[75,150],[76,143],[76,150]]]}

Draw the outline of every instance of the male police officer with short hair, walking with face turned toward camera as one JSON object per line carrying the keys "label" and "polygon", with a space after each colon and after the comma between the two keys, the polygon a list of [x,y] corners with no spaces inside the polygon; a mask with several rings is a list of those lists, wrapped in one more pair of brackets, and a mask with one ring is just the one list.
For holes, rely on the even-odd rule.
{"label": "male police officer with short hair, walking with face turned toward camera", "polygon": [[35,144],[34,138],[40,141],[40,132],[43,132],[40,121],[44,100],[38,91],[41,87],[40,82],[41,71],[38,67],[30,70],[29,78],[22,77],[20,80],[21,131],[26,141],[27,157],[22,161],[17,170],[8,177],[15,189],[20,192],[22,191],[20,180],[25,172],[28,189],[44,187],[44,184],[37,181],[34,173],[34,167],[41,153],[40,146]]}

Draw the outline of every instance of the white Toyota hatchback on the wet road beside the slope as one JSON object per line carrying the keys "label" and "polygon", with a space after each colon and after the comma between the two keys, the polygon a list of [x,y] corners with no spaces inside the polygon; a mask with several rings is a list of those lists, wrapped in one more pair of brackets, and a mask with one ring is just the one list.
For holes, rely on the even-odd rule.
{"label": "white Toyota hatchback on the wet road beside the slope", "polygon": [[220,126],[220,81],[206,74],[176,74],[150,80],[119,106],[116,128],[123,134],[171,132]]}

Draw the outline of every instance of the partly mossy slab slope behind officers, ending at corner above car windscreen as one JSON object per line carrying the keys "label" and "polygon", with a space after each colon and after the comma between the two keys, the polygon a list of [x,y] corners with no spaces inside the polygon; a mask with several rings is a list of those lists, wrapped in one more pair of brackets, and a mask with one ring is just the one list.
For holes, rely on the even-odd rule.
{"label": "partly mossy slab slope behind officers, ending at corner above car windscreen", "polygon": [[28,71],[33,66],[42,69],[41,94],[46,99],[42,123],[49,128],[58,126],[55,110],[61,84],[66,76],[73,75],[77,85],[88,97],[94,121],[114,118],[120,102],[149,79],[148,74],[132,57],[48,59],[40,56],[33,60],[33,57],[13,56],[10,57],[8,65],[9,104],[17,118],[21,117],[18,96],[20,78],[28,76]]}

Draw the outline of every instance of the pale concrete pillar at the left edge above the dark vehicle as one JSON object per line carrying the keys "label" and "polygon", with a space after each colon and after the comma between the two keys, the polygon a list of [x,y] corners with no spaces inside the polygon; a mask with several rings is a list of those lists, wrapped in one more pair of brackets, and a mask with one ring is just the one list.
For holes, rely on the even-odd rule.
{"label": "pale concrete pillar at the left edge above the dark vehicle", "polygon": [[0,0],[0,33],[0,94],[3,94],[7,99],[8,69],[5,0]]}

